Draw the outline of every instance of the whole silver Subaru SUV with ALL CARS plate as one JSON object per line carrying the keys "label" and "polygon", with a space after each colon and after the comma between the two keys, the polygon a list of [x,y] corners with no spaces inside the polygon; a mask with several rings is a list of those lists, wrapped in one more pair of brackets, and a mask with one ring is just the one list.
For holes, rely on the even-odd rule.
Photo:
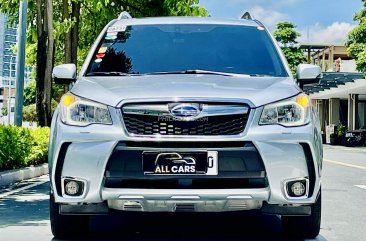
{"label": "whole silver Subaru SUV with ALL CARS plate", "polygon": [[[297,81],[257,20],[165,17],[111,21],[52,121],[50,219],[57,238],[89,216],[134,212],[281,215],[287,234],[320,229],[322,143]],[[299,87],[300,86],[300,87]]]}

